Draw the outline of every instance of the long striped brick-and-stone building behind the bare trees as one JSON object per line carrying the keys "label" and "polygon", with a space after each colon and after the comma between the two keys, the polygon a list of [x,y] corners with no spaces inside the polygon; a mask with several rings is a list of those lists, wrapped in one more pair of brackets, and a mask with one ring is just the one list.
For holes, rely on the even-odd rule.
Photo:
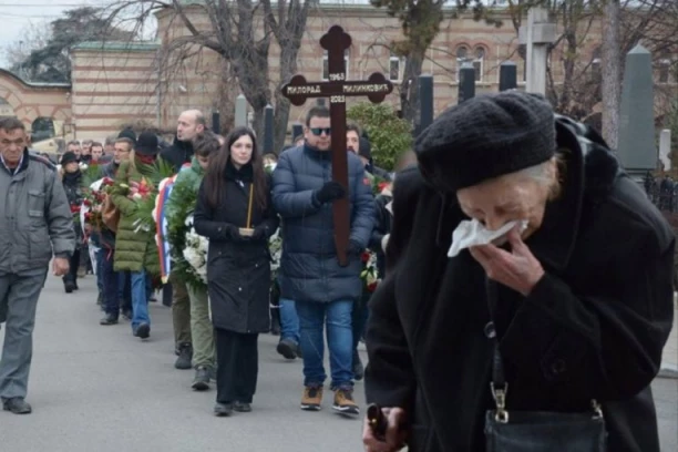
{"label": "long striped brick-and-stone building behind the bare trees", "polygon": [[[209,18],[199,7],[187,7],[187,16],[198,29],[210,27]],[[424,73],[434,75],[435,114],[456,103],[458,55],[465,54],[476,66],[476,94],[497,90],[499,65],[506,60],[517,64],[518,85],[523,83],[524,60],[518,52],[517,33],[508,16],[502,19],[504,25],[499,29],[469,16],[442,23],[423,66]],[[16,114],[27,122],[37,115],[64,120],[73,125],[79,140],[102,140],[130,120],[171,130],[179,112],[186,109],[209,113],[220,105],[222,114],[232,114],[233,109],[224,105],[229,105],[227,101],[233,102],[239,90],[236,81],[228,79],[227,66],[210,50],[191,49],[188,54],[181,55],[168,52],[176,39],[188,31],[168,10],[157,13],[157,22],[154,42],[93,42],[75,47],[71,88],[29,85],[0,74],[0,97],[7,99]],[[318,41],[332,24],[342,25],[353,39],[347,53],[348,78],[364,80],[372,72],[383,72],[396,84],[387,102],[398,105],[404,61],[392,55],[387,45],[400,39],[401,27],[384,10],[347,3],[323,3],[311,9],[298,55],[298,72],[308,81],[327,76],[326,59]],[[255,20],[254,27],[264,29],[260,19]],[[582,56],[577,64],[599,64],[596,60],[599,42],[600,24],[594,21],[581,43]],[[562,60],[561,52],[556,48],[551,54],[551,75],[556,83],[564,76],[563,64],[554,64]],[[275,43],[270,48],[269,68],[273,92],[280,86],[279,49]],[[668,80],[666,85],[676,91],[677,82]],[[349,103],[361,100],[352,99]],[[301,107],[292,106],[290,122],[301,122],[310,104],[311,101]]]}

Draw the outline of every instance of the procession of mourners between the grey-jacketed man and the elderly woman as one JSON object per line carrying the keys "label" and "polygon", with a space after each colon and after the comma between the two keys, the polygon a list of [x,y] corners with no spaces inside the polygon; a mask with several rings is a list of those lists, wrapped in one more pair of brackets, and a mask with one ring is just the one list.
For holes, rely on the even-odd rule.
{"label": "procession of mourners between the grey-jacketed man and the elderly woman", "polygon": [[[199,111],[179,115],[172,144],[162,145],[153,132],[137,135],[130,129],[103,146],[69,143],[59,174],[75,218],[88,189],[102,179],[112,184],[107,196],[119,217],[114,227],[74,222],[78,246],[63,277],[64,290],[78,290],[78,278],[94,273],[104,311],[101,325],[124,318],[135,337],[150,337],[148,302],[160,298],[162,255],[156,230],[138,226],[142,201],[134,187],[147,184],[156,195],[161,166],[170,166],[175,175],[174,195],[164,202],[168,222],[191,220],[209,243],[206,284],[192,284],[174,265],[164,287],[165,294],[172,291],[175,367],[195,370],[195,390],[216,383],[217,414],[249,411],[258,372],[257,336],[273,331],[280,335],[277,351],[285,359],[304,359],[301,409],[319,410],[327,379],[327,326],[332,408],[358,414],[352,387],[364,372],[358,345],[367,300],[384,270],[391,174],[373,165],[367,134],[349,125],[345,189],[331,179],[330,141],[329,112],[317,106],[308,113],[304,135],[279,155],[261,155],[248,127],[226,136],[213,133]],[[186,192],[194,205],[177,205]],[[332,202],[343,197],[351,223],[346,266],[336,256],[331,213]],[[281,242],[281,257],[271,253],[275,239]],[[182,258],[181,253],[172,255]]]}

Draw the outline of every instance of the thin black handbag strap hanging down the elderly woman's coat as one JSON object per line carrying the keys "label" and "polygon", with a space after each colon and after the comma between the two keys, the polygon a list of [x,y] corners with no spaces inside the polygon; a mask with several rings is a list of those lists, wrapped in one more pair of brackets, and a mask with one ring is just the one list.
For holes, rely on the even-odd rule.
{"label": "thin black handbag strap hanging down the elderly woman's coat", "polygon": [[[508,383],[504,374],[504,363],[499,349],[499,339],[496,338],[496,328],[494,323],[494,312],[499,299],[496,282],[485,277],[485,291],[487,298],[487,309],[490,310],[490,322],[485,325],[485,336],[492,341],[492,381],[490,389],[496,410],[494,419],[501,423],[508,423],[508,411],[506,410],[506,394],[508,392]],[[600,404],[594,399],[590,401],[593,409],[593,418],[602,419],[603,410]]]}

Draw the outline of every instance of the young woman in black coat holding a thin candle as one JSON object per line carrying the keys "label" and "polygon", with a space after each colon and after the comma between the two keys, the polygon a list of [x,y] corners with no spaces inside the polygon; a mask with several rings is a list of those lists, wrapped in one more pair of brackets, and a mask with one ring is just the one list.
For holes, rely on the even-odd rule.
{"label": "young woman in black coat holding a thin candle", "polygon": [[212,157],[195,230],[209,238],[207,288],[217,352],[217,415],[247,412],[257,386],[259,332],[270,327],[268,239],[278,228],[254,132],[234,130]]}

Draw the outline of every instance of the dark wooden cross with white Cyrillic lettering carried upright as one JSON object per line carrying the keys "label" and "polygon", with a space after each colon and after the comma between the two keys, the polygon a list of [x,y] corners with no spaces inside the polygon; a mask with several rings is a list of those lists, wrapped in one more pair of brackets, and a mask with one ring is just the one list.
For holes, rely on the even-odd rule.
{"label": "dark wooden cross with white Cyrillic lettering carried upright", "polygon": [[[328,81],[307,82],[304,75],[295,75],[282,86],[282,95],[294,105],[304,105],[310,97],[329,97],[330,123],[332,127],[332,181],[341,184],[348,194],[348,158],[346,146],[346,97],[367,96],[372,103],[383,102],[393,91],[393,84],[382,73],[374,72],[367,81],[346,80],[343,55],[351,47],[351,37],[339,25],[332,25],[320,38],[320,47],[327,50]],[[348,246],[351,229],[349,197],[336,201],[332,205],[335,222],[335,246],[337,258],[342,266],[348,265]]]}

